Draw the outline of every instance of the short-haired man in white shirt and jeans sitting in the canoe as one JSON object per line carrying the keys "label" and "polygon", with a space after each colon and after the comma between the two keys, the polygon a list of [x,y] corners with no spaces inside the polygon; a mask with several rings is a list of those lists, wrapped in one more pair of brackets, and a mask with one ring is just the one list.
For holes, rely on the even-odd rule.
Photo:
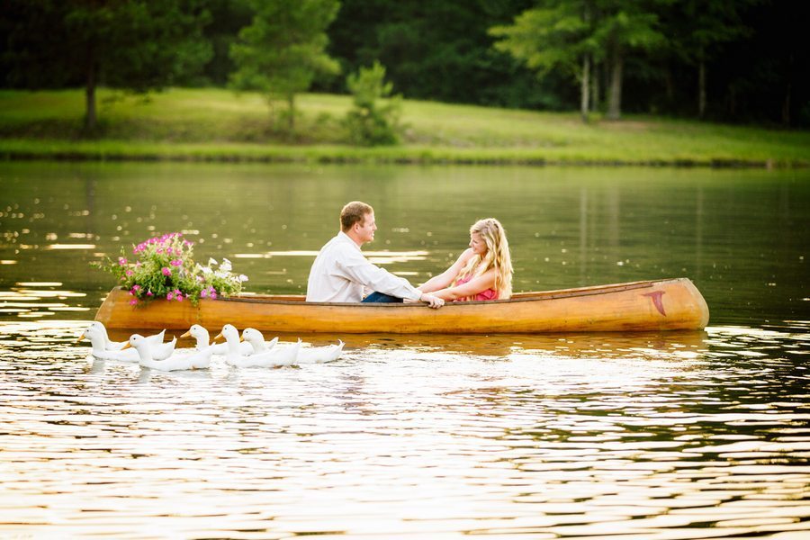
{"label": "short-haired man in white shirt and jeans sitting in the canoe", "polygon": [[[427,302],[440,308],[445,301],[422,293],[405,280],[374,266],[360,247],[374,240],[374,209],[365,202],[349,202],[340,211],[340,232],[312,263],[307,302]],[[374,291],[363,299],[365,289]]]}

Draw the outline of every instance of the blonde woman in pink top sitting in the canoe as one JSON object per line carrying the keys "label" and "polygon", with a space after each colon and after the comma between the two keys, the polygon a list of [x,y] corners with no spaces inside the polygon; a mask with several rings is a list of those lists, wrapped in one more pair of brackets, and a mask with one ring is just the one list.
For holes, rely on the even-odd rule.
{"label": "blonde woman in pink top sitting in the canoe", "polygon": [[448,302],[506,300],[512,295],[512,259],[506,231],[494,218],[470,228],[470,248],[440,275],[417,287]]}

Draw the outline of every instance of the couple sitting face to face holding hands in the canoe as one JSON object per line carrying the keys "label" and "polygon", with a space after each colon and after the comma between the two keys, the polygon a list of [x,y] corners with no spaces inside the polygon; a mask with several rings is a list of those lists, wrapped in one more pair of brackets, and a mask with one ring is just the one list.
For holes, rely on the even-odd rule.
{"label": "couple sitting face to face holding hands in the canoe", "polygon": [[[509,242],[498,220],[477,221],[470,228],[470,247],[440,275],[414,287],[408,280],[374,266],[360,250],[374,240],[374,209],[349,202],[340,211],[340,232],[312,264],[307,302],[445,302],[506,300],[512,294]],[[365,292],[371,293],[365,296]]]}

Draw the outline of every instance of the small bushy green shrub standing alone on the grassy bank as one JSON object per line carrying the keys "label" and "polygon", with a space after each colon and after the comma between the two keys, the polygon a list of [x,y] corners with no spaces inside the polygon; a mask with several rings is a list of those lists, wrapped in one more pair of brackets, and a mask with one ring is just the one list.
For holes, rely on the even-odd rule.
{"label": "small bushy green shrub standing alone on the grassy bank", "polygon": [[[392,96],[393,85],[385,82],[385,67],[374,62],[347,77],[353,107],[347,113],[349,137],[361,146],[396,144],[399,141],[401,96]],[[380,100],[386,102],[381,104]]]}

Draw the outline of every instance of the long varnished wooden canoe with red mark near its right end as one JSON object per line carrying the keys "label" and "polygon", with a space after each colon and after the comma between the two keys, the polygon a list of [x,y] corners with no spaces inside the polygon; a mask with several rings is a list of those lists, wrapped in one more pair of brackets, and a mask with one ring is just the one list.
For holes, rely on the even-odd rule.
{"label": "long varnished wooden canoe with red mark near its right end", "polygon": [[697,330],[708,323],[703,296],[687,278],[599,285],[509,300],[454,302],[432,310],[421,303],[304,302],[297,295],[242,295],[191,302],[155,300],[130,306],[113,289],[95,315],[109,329],[219,330],[226,323],[277,333],[535,334]]}

